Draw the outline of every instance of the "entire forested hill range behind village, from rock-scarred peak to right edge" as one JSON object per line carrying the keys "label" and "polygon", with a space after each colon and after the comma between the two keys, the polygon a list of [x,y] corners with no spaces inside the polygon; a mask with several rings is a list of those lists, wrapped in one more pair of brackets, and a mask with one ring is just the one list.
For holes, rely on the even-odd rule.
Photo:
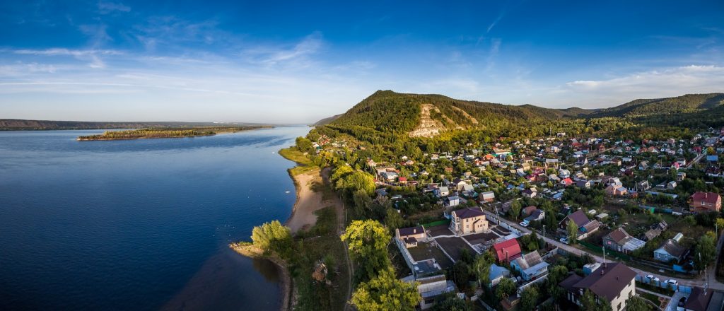
{"label": "entire forested hill range behind village, from rock-scarred peak to right edge", "polygon": [[[724,105],[724,94],[693,94],[674,98],[639,99],[605,109],[542,108],[532,105],[505,105],[462,101],[436,94],[406,94],[378,90],[345,114],[322,119],[315,125],[328,125],[348,132],[365,131],[432,137],[445,131],[466,129],[505,129],[525,127],[533,122],[600,117],[635,118],[662,114],[701,113]],[[717,109],[718,110],[718,109]],[[724,108],[720,109],[724,112]]]}

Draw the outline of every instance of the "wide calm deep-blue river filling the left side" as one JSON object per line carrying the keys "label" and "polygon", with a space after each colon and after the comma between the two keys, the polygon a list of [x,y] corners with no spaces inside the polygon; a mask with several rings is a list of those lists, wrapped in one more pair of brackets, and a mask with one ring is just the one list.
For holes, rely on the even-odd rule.
{"label": "wide calm deep-blue river filling the left side", "polygon": [[290,216],[277,150],[308,130],[0,132],[0,310],[278,310],[274,265],[227,244]]}

